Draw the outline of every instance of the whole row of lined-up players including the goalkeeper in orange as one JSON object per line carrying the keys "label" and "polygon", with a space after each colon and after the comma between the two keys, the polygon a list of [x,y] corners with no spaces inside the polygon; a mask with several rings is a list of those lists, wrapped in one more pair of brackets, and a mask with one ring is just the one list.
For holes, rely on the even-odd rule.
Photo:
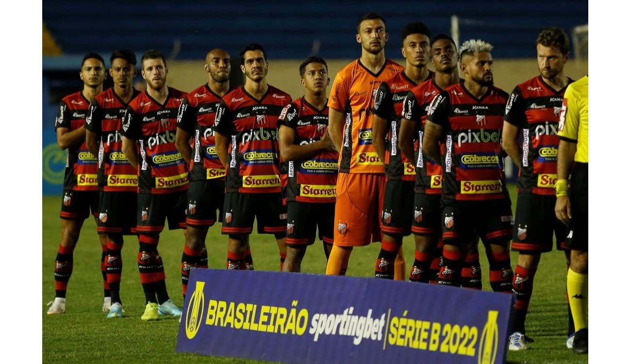
{"label": "whole row of lined-up players including the goalkeeper in orange", "polygon": [[[540,33],[540,75],[510,95],[493,86],[487,42],[468,40],[458,49],[451,37],[432,38],[423,23],[410,23],[401,35],[401,66],[384,55],[388,37],[381,16],[360,18],[360,58],[339,71],[327,95],[326,61],[309,57],[299,66],[304,95],[295,100],[268,85],[258,44],[239,54],[244,86],[229,85],[230,56],[213,49],[204,64],[208,82],[189,93],[167,86],[168,67],[156,50],[141,57],[143,92],[132,85],[133,52],[112,54],[114,86],[107,90],[105,62],[86,54],[84,88],[62,100],[56,120],[68,163],[48,314],[65,312],[73,249],[90,211],[102,245],[107,317],[122,316],[123,236],[138,235],[142,320],[182,314],[168,296],[157,249],[165,220],[170,229],[186,229],[186,295],[191,269],[208,267],[204,240],[216,221],[228,235],[227,269],[254,269],[249,235],[256,218],[258,232],[276,239],[281,271],[290,272],[300,271],[317,231],[326,274],[345,274],[353,247],[381,242],[376,278],[480,290],[481,240],[492,289],[516,295],[509,349],[525,349],[534,273],[553,234],[569,264],[570,249],[572,257],[587,251],[587,224],[584,234],[574,231],[575,219],[555,213],[555,195],[563,192],[561,186],[555,193],[555,182],[569,175],[569,165],[565,178],[557,171],[559,140],[576,139],[557,132],[573,82],[563,73],[567,35],[558,28]],[[505,156],[520,168],[515,219]],[[411,233],[415,261],[407,274],[401,246]],[[519,251],[515,271],[511,240]],[[574,289],[582,288],[568,285],[568,294]],[[568,342],[584,329],[577,335],[587,352],[586,293],[583,304],[569,315]]]}

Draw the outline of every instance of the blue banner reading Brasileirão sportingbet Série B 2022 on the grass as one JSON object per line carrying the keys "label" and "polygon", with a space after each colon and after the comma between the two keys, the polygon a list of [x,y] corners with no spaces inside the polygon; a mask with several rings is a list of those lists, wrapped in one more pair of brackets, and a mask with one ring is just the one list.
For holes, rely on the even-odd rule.
{"label": "blue banner reading Brasileir\u00e3o sportingbet S\u00e9rie B 2022 on the grass", "polygon": [[513,295],[193,269],[175,351],[285,363],[504,363]]}

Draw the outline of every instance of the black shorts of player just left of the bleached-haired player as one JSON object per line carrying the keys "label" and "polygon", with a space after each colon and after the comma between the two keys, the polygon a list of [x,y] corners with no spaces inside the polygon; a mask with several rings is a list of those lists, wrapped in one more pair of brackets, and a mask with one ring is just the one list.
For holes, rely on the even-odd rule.
{"label": "black shorts of player just left of the bleached-haired player", "polygon": [[412,233],[414,235],[432,237],[442,232],[440,221],[441,194],[414,194],[412,215]]}

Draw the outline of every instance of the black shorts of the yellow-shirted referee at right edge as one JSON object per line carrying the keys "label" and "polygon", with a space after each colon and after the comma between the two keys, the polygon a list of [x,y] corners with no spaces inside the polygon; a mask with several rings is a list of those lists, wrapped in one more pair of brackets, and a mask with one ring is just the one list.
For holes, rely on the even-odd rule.
{"label": "black shorts of the yellow-shirted referee at right edge", "polygon": [[587,213],[587,163],[576,163],[570,177],[570,208],[572,220],[565,245],[573,250],[587,252],[589,219]]}

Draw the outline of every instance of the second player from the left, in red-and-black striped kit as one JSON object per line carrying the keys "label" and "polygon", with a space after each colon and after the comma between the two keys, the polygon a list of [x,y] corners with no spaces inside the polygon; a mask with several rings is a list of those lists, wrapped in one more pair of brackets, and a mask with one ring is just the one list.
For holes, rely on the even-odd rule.
{"label": "second player from the left, in red-and-black striped kit", "polygon": [[138,176],[122,153],[122,117],[127,105],[140,94],[132,81],[136,75],[136,55],[131,50],[115,50],[110,57],[114,86],[92,100],[85,122],[85,143],[98,155],[98,233],[107,237],[105,271],[112,306],[107,317],[122,316],[121,273],[123,235],[136,235]]}

